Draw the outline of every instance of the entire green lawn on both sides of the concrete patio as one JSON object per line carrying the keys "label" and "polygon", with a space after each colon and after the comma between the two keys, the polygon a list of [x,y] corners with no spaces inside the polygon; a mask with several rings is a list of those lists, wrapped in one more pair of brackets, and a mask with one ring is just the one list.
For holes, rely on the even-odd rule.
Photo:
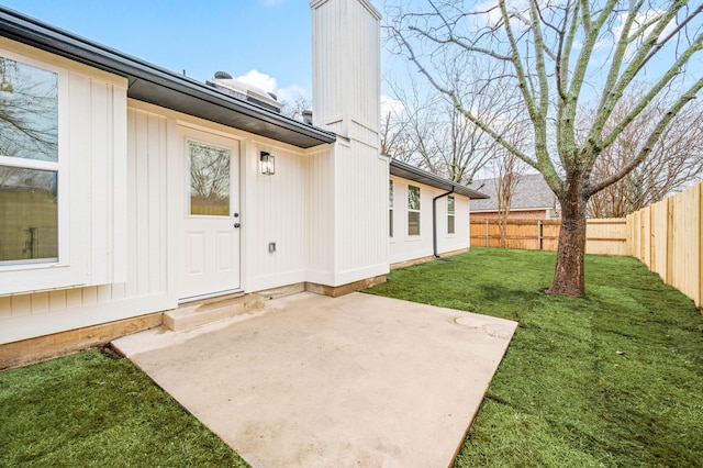
{"label": "entire green lawn on both sides of the concrete patio", "polygon": [[[703,316],[632,258],[472,247],[367,292],[516,320],[460,467],[703,466]],[[233,415],[236,417],[236,415]],[[246,466],[127,359],[89,350],[0,372],[0,466]]]}

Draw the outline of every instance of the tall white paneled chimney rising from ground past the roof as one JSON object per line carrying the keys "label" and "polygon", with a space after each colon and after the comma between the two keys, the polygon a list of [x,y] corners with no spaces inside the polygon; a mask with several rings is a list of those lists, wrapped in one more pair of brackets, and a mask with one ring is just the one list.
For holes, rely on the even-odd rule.
{"label": "tall white paneled chimney rising from ground past the roof", "polygon": [[330,159],[311,165],[308,280],[341,286],[388,272],[380,15],[366,0],[314,0],[311,9],[313,120],[338,137]]}

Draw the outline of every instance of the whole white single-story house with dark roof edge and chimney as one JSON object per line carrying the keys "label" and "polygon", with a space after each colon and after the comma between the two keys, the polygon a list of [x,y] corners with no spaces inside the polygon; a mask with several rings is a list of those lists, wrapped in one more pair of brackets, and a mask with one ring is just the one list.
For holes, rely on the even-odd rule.
{"label": "whole white single-story house with dark roof edge and chimney", "polygon": [[468,248],[480,193],[380,155],[378,12],[311,9],[314,124],[0,7],[0,344]]}

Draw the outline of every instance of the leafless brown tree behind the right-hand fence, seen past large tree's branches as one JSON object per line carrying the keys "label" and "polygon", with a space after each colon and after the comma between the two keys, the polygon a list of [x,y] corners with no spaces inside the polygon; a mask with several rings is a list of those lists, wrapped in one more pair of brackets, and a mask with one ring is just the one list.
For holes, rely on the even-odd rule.
{"label": "leafless brown tree behind the right-hand fence, seen past large tree's branches", "polygon": [[[622,118],[629,111],[627,103],[634,101],[636,99],[621,101],[613,114]],[[593,175],[603,179],[631,160],[651,132],[652,114],[661,113],[665,108],[666,103],[658,100],[645,109],[613,145],[602,152]],[[588,214],[591,218],[624,218],[702,178],[703,104],[694,101],[673,119],[641,165],[591,197]]]}

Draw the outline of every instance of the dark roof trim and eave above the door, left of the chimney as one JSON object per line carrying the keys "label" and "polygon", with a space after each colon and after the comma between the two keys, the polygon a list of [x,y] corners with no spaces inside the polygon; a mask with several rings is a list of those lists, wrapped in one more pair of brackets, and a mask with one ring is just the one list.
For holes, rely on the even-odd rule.
{"label": "dark roof trim and eave above the door, left of the chimney", "polygon": [[314,127],[205,83],[105,47],[0,5],[0,35],[129,79],[127,96],[163,108],[278,140],[301,148],[336,141]]}

